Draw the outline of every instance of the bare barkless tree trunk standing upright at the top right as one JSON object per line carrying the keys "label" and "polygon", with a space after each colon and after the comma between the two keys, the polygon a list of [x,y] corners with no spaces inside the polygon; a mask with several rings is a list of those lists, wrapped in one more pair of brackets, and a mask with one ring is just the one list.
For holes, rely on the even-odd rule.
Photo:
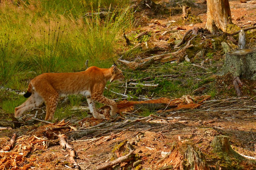
{"label": "bare barkless tree trunk standing upright at the top right", "polygon": [[232,20],[228,0],[207,0],[206,28],[211,32],[216,29],[226,32],[229,23]]}

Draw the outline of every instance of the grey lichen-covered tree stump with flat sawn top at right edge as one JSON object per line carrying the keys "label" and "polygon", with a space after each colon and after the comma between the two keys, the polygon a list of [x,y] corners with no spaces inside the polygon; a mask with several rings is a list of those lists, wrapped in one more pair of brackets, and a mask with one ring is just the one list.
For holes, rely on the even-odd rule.
{"label": "grey lichen-covered tree stump with flat sawn top at right edge", "polygon": [[256,49],[241,49],[226,53],[223,73],[256,80]]}

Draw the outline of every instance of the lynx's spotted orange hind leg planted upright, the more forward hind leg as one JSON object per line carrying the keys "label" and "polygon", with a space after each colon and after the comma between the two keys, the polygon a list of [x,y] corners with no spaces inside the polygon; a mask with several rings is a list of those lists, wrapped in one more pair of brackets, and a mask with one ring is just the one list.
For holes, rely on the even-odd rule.
{"label": "lynx's spotted orange hind leg planted upright, the more forward hind leg", "polygon": [[45,120],[54,119],[54,113],[56,111],[58,101],[59,101],[59,94],[57,92],[54,94],[51,94],[51,96],[46,100]]}

